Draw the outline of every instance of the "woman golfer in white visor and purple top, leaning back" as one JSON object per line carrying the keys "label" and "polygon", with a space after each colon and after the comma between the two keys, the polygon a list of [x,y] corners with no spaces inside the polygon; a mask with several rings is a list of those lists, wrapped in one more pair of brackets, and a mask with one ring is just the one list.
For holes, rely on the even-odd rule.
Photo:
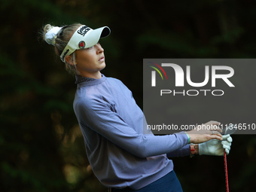
{"label": "woman golfer in white visor and purple top, leaning back", "polygon": [[168,157],[223,155],[223,149],[228,154],[232,139],[221,136],[216,121],[206,123],[211,127],[207,130],[143,134],[145,117],[130,90],[100,72],[106,64],[99,38],[109,34],[107,26],[93,30],[81,24],[48,24],[43,35],[66,69],[75,74],[78,87],[73,107],[93,172],[113,192],[182,191]]}

